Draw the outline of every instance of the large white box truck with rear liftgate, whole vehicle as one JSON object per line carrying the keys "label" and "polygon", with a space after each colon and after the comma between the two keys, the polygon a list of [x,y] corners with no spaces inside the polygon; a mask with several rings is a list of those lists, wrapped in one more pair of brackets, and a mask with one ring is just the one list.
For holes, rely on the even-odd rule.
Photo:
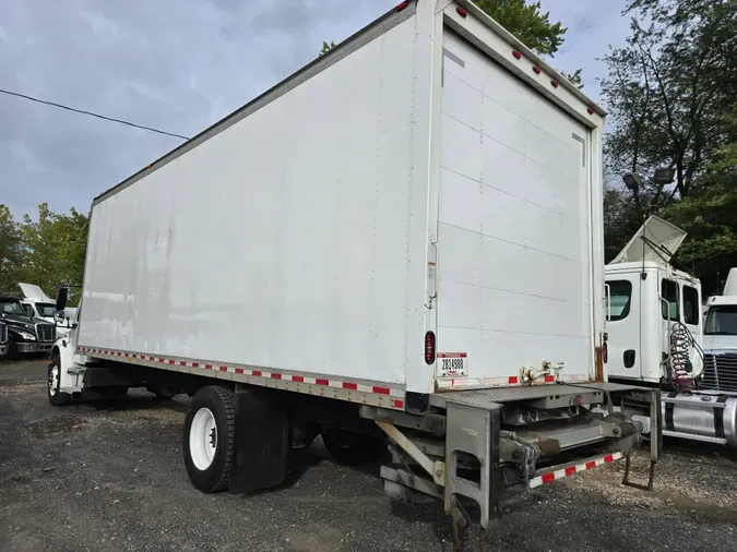
{"label": "large white box truck with rear liftgate, whole vehicle", "polygon": [[278,484],[318,434],[345,463],[389,441],[388,494],[483,527],[507,488],[629,458],[659,395],[602,362],[603,127],[471,2],[403,2],[95,199],[49,399],[193,395],[204,492]]}

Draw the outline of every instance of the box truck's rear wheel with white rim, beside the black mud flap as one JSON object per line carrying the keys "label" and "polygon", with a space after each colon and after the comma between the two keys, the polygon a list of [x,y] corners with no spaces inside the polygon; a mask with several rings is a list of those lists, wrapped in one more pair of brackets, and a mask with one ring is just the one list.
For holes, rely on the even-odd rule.
{"label": "box truck's rear wheel with white rim, beside the black mud flap", "polygon": [[236,401],[231,389],[201,388],[185,419],[182,448],[189,479],[198,491],[224,491],[230,480]]}

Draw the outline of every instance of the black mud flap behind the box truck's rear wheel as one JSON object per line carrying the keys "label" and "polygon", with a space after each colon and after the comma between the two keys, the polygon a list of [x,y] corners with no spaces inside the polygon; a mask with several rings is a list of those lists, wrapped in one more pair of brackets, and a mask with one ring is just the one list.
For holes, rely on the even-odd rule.
{"label": "black mud flap behind the box truck's rear wheel", "polygon": [[229,492],[245,493],[284,482],[290,449],[289,419],[278,394],[236,387],[234,446]]}

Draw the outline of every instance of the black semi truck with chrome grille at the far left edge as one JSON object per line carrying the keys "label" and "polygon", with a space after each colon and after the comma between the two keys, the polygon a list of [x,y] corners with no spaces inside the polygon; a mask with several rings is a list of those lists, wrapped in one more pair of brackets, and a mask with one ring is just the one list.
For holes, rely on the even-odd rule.
{"label": "black semi truck with chrome grille at the far left edge", "polygon": [[55,325],[44,319],[28,316],[17,298],[0,295],[0,321],[8,327],[8,353],[51,350],[56,337]]}

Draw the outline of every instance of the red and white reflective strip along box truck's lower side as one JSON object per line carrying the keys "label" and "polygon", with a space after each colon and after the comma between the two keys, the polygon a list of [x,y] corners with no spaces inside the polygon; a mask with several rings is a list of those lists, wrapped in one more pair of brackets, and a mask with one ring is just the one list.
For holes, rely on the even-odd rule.
{"label": "red and white reflective strip along box truck's lower side", "polygon": [[203,371],[226,372],[237,375],[247,375],[251,377],[263,377],[265,380],[278,380],[283,382],[301,383],[307,385],[316,385],[319,387],[331,387],[337,389],[355,391],[358,393],[370,393],[373,395],[382,395],[391,398],[391,406],[395,409],[404,409],[404,392],[392,387],[384,387],[380,385],[368,385],[358,382],[346,382],[344,380],[323,379],[311,375],[287,374],[282,372],[270,372],[264,370],[257,370],[253,368],[235,367],[229,364],[198,362],[194,360],[176,360],[165,357],[140,355],[136,352],[126,352],[110,349],[96,349],[91,347],[78,347],[78,355],[104,355],[106,357],[115,357],[116,359],[134,359],[146,363],[164,364],[164,368],[194,368]]}

